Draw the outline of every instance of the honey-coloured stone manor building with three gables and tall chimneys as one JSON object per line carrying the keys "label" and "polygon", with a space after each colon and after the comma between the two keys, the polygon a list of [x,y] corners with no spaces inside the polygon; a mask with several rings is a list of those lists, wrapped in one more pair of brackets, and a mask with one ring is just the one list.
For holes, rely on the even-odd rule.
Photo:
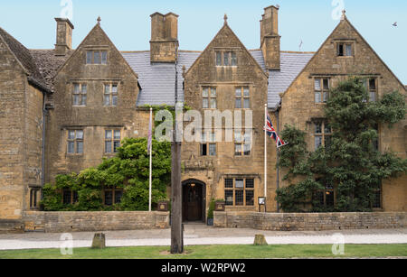
{"label": "honey-coloured stone manor building with three gables and tall chimneys", "polygon": [[[247,114],[253,118],[251,128],[232,130],[229,142],[222,125],[204,134],[205,143],[183,143],[184,219],[204,220],[211,199],[225,199],[228,212],[255,212],[265,185],[267,211],[278,211],[276,189],[287,184],[270,138],[264,180],[266,104],[276,128],[307,131],[313,151],[324,93],[339,80],[367,78],[375,99],[406,92],[345,14],[317,52],[281,51],[278,17],[279,8],[264,9],[258,50],[246,49],[226,16],[202,52],[178,49],[173,13],[151,15],[150,51],[118,51],[100,19],[76,50],[67,19],[56,19],[53,50],[28,50],[0,28],[0,219],[18,226],[39,209],[44,183],[113,157],[125,137],[146,137],[145,106],[174,106],[175,84],[180,100],[202,115],[237,112],[243,125]],[[406,126],[379,126],[379,149],[405,158]],[[216,134],[222,142],[212,140]],[[407,211],[406,184],[405,175],[383,182],[378,210]]]}

